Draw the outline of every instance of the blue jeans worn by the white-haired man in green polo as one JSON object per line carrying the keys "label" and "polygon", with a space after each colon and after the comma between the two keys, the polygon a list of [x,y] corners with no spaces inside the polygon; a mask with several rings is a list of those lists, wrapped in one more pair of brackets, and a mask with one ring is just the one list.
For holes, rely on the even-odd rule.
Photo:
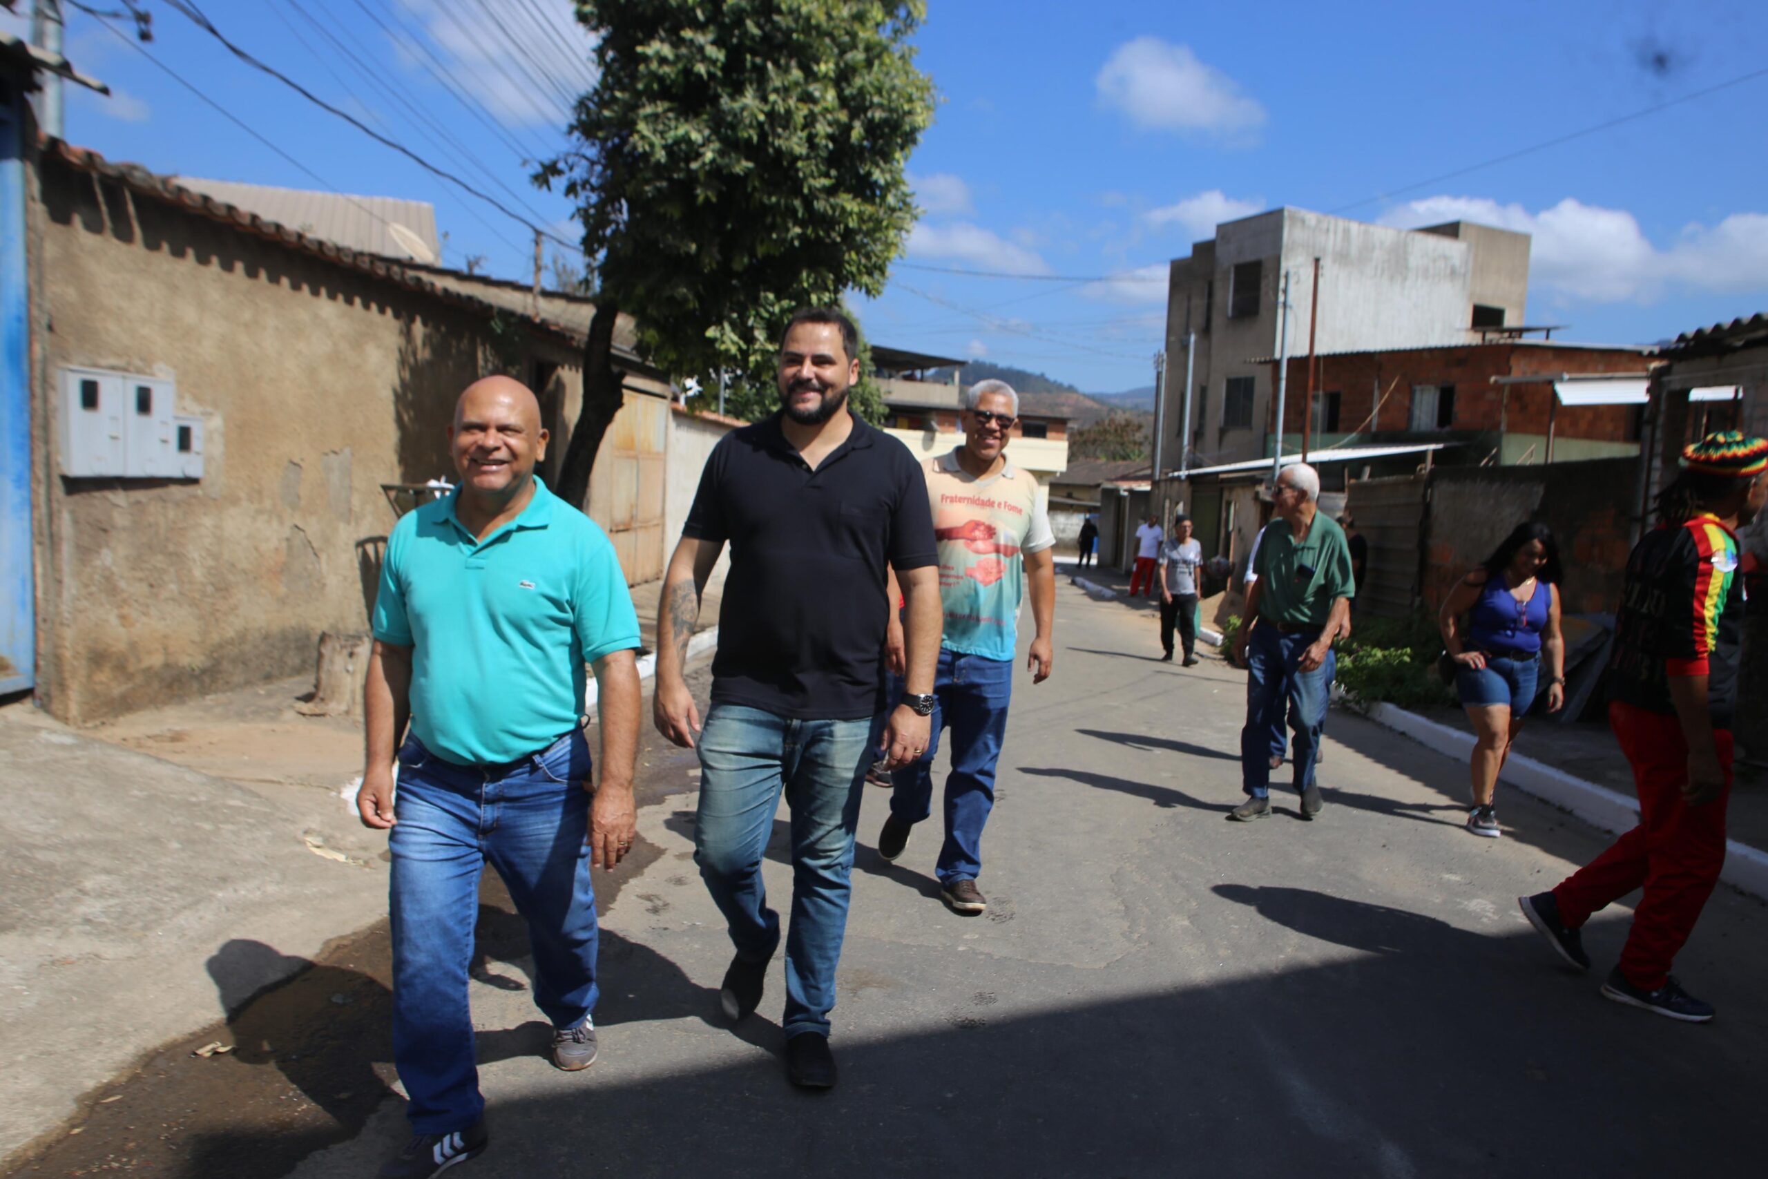
{"label": "blue jeans worn by the white-haired man in green polo", "polygon": [[1289,753],[1296,790],[1314,785],[1314,758],[1319,755],[1338,656],[1328,650],[1326,661],[1312,672],[1296,665],[1319,636],[1317,629],[1284,635],[1261,622],[1246,642],[1246,726],[1239,730],[1239,780],[1241,790],[1255,799],[1269,795],[1271,755],[1282,749],[1280,742],[1273,746],[1273,737],[1282,734],[1285,711],[1294,730]]}

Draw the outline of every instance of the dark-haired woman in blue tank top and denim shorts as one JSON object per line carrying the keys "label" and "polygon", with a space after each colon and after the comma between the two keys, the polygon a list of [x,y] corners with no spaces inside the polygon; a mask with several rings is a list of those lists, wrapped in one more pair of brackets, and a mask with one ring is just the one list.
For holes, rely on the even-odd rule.
{"label": "dark-haired woman in blue tank top and denim shorts", "polygon": [[[1559,635],[1559,544],[1543,523],[1519,523],[1485,564],[1443,601],[1437,626],[1455,661],[1455,693],[1473,721],[1473,810],[1467,831],[1496,840],[1492,792],[1522,718],[1540,695],[1545,663],[1547,711],[1565,707],[1565,638]],[[1462,615],[1467,615],[1462,631]]]}

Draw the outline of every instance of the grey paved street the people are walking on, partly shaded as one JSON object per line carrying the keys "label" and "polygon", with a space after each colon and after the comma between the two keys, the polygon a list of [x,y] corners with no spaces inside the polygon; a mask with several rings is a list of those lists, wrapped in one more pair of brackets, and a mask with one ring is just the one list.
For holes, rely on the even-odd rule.
{"label": "grey paved street the people are walking on, partly shaded", "polygon": [[[985,917],[935,900],[932,825],[877,861],[868,790],[836,1091],[785,1084],[778,967],[757,1016],[720,1023],[728,942],[675,795],[605,917],[587,1075],[536,1055],[525,993],[476,985],[493,1149],[463,1174],[1759,1174],[1759,903],[1722,891],[1680,962],[1715,1025],[1619,1008],[1597,986],[1625,914],[1593,923],[1577,977],[1513,903],[1595,833],[1512,797],[1512,838],[1469,838],[1459,765],[1344,714],[1319,822],[1285,797],[1227,824],[1243,679],[1151,661],[1147,615],[1066,583],[1057,652],[1018,686]],[[403,1133],[389,1101],[295,1174],[371,1174]]]}

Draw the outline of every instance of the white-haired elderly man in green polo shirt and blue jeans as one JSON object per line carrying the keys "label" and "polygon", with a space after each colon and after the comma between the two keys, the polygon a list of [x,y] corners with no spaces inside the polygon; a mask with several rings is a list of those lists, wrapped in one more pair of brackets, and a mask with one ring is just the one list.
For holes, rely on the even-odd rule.
{"label": "white-haired elderly man in green polo shirt and blue jeans", "polygon": [[1239,822],[1271,813],[1271,734],[1280,732],[1285,709],[1301,817],[1314,818],[1324,806],[1314,764],[1338,668],[1331,642],[1347,629],[1356,587],[1344,529],[1319,511],[1319,495],[1312,467],[1284,467],[1273,488],[1276,520],[1264,527],[1254,557],[1259,580],[1246,590],[1248,622],[1234,640],[1234,659],[1246,668],[1239,774],[1248,797],[1231,815]]}

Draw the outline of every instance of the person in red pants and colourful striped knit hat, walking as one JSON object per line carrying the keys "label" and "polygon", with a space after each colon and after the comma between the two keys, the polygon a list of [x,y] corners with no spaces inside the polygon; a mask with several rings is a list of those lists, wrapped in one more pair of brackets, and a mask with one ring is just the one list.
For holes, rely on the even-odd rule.
{"label": "person in red pants and colourful striped knit hat, walking", "polygon": [[1713,1006],[1671,976],[1726,861],[1731,714],[1738,696],[1743,562],[1736,530],[1768,500],[1768,438],[1708,435],[1681,453],[1658,525],[1627,559],[1607,668],[1609,725],[1634,767],[1639,825],[1522,914],[1579,970],[1593,912],[1644,889],[1602,993],[1688,1023]]}

